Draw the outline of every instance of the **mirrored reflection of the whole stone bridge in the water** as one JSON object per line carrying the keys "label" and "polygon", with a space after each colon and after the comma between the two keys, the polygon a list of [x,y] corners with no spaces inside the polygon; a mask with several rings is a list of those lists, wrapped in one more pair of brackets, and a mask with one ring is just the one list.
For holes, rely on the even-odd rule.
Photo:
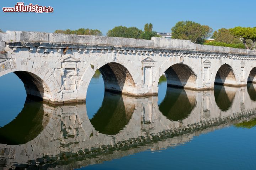
{"label": "mirrored reflection of the whole stone bridge in the water", "polygon": [[0,128],[0,166],[80,168],[177,146],[232,124],[246,126],[241,124],[245,120],[254,120],[249,123],[254,125],[255,89],[252,84],[216,86],[212,91],[168,87],[159,106],[157,96],[105,92],[91,119],[85,104],[53,107],[27,102],[13,121]]}

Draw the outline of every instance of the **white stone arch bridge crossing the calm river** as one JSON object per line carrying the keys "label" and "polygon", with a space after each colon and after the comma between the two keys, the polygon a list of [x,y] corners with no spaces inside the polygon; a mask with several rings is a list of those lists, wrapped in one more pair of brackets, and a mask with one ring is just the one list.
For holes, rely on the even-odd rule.
{"label": "white stone arch bridge crossing the calm river", "polygon": [[97,69],[106,90],[133,96],[158,94],[164,73],[168,85],[193,90],[256,81],[256,51],[189,40],[7,31],[0,51],[0,77],[14,72],[28,96],[53,104],[84,102]]}

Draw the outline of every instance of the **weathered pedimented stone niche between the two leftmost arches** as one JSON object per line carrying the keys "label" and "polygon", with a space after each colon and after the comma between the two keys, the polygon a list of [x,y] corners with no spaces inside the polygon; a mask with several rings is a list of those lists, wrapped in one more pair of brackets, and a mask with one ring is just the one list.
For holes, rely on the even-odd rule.
{"label": "weathered pedimented stone niche between the two leftmost arches", "polygon": [[80,61],[72,56],[62,60],[62,90],[77,89],[78,62]]}

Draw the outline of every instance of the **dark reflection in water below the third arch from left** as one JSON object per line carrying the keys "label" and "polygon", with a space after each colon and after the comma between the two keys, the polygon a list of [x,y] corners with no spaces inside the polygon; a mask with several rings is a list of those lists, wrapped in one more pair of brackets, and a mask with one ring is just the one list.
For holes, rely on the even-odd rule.
{"label": "dark reflection in water below the third arch from left", "polygon": [[159,111],[172,121],[181,121],[191,114],[195,106],[195,96],[187,96],[184,89],[167,87],[165,98],[159,105]]}

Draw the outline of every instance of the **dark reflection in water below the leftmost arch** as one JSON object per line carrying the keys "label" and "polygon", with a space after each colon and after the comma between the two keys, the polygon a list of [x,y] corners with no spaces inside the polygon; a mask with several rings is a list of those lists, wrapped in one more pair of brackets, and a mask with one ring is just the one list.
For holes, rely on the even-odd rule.
{"label": "dark reflection in water below the leftmost arch", "polygon": [[0,143],[22,145],[36,138],[49,122],[43,103],[26,98],[22,111],[9,124],[0,128]]}

